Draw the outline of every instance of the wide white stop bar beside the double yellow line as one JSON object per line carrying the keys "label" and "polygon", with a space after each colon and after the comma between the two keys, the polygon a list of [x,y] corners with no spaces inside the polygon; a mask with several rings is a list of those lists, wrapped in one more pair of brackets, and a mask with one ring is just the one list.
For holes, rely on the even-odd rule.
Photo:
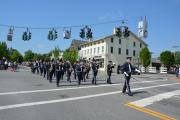
{"label": "wide white stop bar beside the double yellow line", "polygon": [[146,107],[146,106],[151,105],[155,102],[161,101],[163,99],[168,99],[168,98],[171,98],[171,97],[176,96],[176,95],[180,95],[180,90],[175,90],[175,91],[171,91],[171,92],[158,94],[158,95],[151,96],[148,98],[144,98],[141,100],[137,100],[137,101],[134,101],[131,103],[134,105],[140,106],[140,107]]}

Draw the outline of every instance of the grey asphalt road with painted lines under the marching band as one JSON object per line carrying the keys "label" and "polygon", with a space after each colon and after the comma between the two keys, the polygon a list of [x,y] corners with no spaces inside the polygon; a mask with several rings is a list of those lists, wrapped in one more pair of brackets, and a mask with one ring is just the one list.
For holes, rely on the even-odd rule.
{"label": "grey asphalt road with painted lines under the marching band", "polygon": [[134,95],[121,93],[124,78],[99,72],[78,86],[64,80],[56,87],[28,70],[0,71],[0,120],[159,120],[180,119],[180,82],[171,75],[134,75]]}

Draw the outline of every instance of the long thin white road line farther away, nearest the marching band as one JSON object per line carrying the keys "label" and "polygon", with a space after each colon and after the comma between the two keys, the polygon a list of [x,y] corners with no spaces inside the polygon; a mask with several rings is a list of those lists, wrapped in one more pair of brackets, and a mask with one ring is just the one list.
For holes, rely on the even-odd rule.
{"label": "long thin white road line farther away, nearest the marching band", "polygon": [[[136,83],[152,83],[159,81],[167,81],[165,80],[154,80],[154,81],[142,81],[142,82],[132,82],[131,84]],[[97,86],[83,86],[83,87],[71,87],[71,88],[60,88],[60,89],[45,89],[45,90],[31,90],[31,91],[16,91],[16,92],[3,92],[1,95],[14,95],[14,94],[25,94],[25,93],[38,93],[38,92],[52,92],[52,91],[63,91],[63,90],[76,90],[76,89],[87,89],[87,88],[98,88],[98,87],[107,87],[107,86],[117,86],[123,84],[105,84],[105,85],[97,85]]]}

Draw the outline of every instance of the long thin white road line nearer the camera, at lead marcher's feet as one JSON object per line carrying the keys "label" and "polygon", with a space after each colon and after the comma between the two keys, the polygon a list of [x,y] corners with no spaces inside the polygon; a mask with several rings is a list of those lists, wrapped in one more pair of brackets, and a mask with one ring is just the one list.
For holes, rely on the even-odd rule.
{"label": "long thin white road line nearer the camera, at lead marcher's feet", "polygon": [[[149,87],[134,88],[132,90],[142,90],[142,89],[150,89],[150,88],[172,86],[172,85],[180,85],[180,83],[162,84],[162,85],[155,85],[155,86],[149,86]],[[80,97],[72,97],[72,98],[66,98],[66,99],[57,99],[57,100],[49,100],[49,101],[39,101],[39,102],[31,102],[31,103],[6,105],[6,106],[0,106],[0,110],[21,108],[21,107],[28,107],[28,106],[36,106],[36,105],[43,105],[43,104],[50,104],[50,103],[68,102],[68,101],[82,100],[82,99],[88,99],[88,98],[94,98],[94,97],[100,97],[100,96],[120,94],[120,93],[121,93],[120,91],[114,91],[114,92],[107,92],[107,93],[80,96]]]}

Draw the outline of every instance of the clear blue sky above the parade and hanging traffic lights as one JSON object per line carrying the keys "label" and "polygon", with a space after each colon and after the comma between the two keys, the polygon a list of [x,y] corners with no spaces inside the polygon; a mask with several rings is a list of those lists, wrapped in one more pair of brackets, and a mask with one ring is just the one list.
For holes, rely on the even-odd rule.
{"label": "clear blue sky above the parade and hanging traffic lights", "polygon": [[[165,50],[180,50],[180,0],[0,0],[0,25],[24,27],[59,27],[89,25],[107,21],[127,20],[126,25],[137,34],[138,21],[147,17],[148,44],[153,57]],[[111,35],[121,21],[90,26],[93,39]],[[65,50],[72,39],[80,39],[81,28],[72,27],[70,40],[63,39],[63,28],[58,29],[58,39],[47,39],[48,29],[30,29],[32,39],[22,40],[26,29],[15,28],[13,41],[7,41],[8,27],[0,26],[0,41],[22,54],[31,49],[36,53],[48,53],[58,46]]]}

